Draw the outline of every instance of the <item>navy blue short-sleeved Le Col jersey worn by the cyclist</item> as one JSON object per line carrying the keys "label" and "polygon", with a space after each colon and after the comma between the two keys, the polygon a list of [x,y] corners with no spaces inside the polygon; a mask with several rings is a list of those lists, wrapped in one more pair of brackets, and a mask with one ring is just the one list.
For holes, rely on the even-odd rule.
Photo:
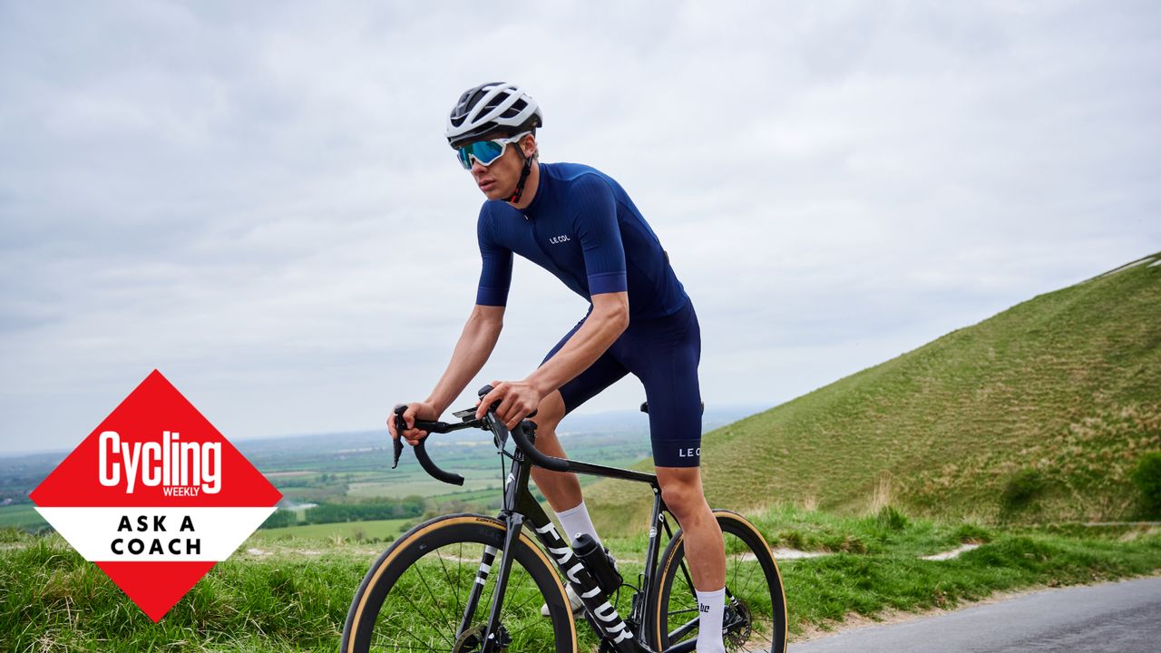
{"label": "navy blue short-sleeved Le Col jersey worn by the cyclist", "polygon": [[484,202],[477,223],[483,271],[476,303],[505,306],[515,252],[582,297],[628,290],[629,317],[672,315],[688,301],[657,235],[607,174],[586,165],[540,164],[540,185],[522,211]]}

